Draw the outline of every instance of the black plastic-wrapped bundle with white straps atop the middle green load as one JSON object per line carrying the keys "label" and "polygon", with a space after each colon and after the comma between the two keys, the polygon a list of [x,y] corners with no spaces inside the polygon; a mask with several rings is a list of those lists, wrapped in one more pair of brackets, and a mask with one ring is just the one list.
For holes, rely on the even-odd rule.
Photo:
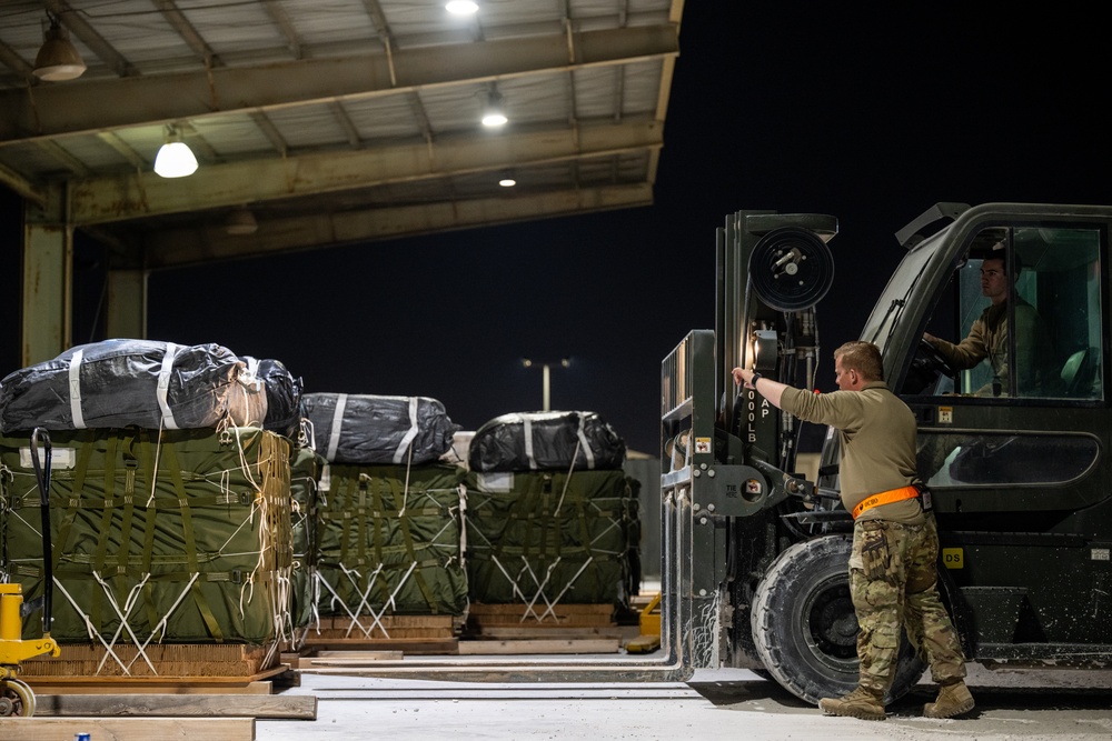
{"label": "black plastic-wrapped bundle with white straps atop the middle green load", "polygon": [[302,400],[316,451],[331,463],[428,463],[448,452],[460,429],[428,397],[307,393]]}

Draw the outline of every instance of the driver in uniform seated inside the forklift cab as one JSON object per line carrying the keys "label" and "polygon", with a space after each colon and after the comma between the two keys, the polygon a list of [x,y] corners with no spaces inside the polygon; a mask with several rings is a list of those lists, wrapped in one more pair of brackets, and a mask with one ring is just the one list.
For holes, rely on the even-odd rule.
{"label": "driver in uniform seated inside the forklift cab", "polygon": [[[1007,296],[1022,270],[1019,256],[1013,257],[1013,263],[1009,271],[1003,252],[982,261],[981,292],[992,303],[973,320],[964,340],[955,344],[930,333],[923,334],[923,339],[954,370],[966,370],[987,359],[993,378],[977,390],[977,395],[999,397],[1009,392]],[[1049,387],[1053,378],[1053,372],[1041,362],[1053,357],[1050,334],[1034,307],[1019,296],[1014,298],[1014,302],[1017,390],[1020,395],[1043,395],[1051,391],[1045,387]]]}

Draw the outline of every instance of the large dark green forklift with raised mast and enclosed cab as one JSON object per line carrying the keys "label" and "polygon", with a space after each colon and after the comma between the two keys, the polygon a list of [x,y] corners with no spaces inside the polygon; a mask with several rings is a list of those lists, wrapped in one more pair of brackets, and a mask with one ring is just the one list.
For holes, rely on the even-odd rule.
{"label": "large dark green forklift with raised mast and enclosed cab", "polygon": [[[1112,664],[1110,228],[1112,207],[939,203],[896,234],[905,254],[860,334],[919,420],[940,592],[966,659],[989,668]],[[800,422],[738,393],[731,369],[815,388],[815,369],[833,364],[815,304],[836,233],[824,214],[727,217],[717,327],[662,366],[662,440],[693,441],[662,474],[664,551],[686,561],[665,563],[665,602],[686,621],[678,651],[699,668],[756,670],[807,702],[857,681],[838,438],[827,430],[814,481],[797,472]],[[1016,307],[1031,307],[1050,338],[1031,347],[1010,332],[1006,378],[986,362],[954,368],[924,341],[969,333],[989,301],[981,266],[1001,256],[1022,268],[1006,320],[1016,327]],[[923,671],[903,641],[888,700]]]}

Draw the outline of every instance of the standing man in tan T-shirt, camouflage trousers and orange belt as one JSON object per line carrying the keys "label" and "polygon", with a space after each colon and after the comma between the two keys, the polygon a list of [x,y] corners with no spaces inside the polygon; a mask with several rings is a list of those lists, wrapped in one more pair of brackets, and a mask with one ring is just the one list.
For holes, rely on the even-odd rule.
{"label": "standing man in tan T-shirt, camouflage trousers and orange belt", "polygon": [[838,391],[814,394],[734,369],[734,380],[756,389],[775,407],[838,431],[842,503],[854,518],[850,592],[861,631],[857,689],[824,698],[834,715],[884,720],[884,695],[895,677],[901,625],[941,684],[923,708],[929,718],[973,709],[965,660],[937,590],[939,533],[924,512],[915,470],[915,417],[883,381],[881,353],[870,342],[834,352]]}

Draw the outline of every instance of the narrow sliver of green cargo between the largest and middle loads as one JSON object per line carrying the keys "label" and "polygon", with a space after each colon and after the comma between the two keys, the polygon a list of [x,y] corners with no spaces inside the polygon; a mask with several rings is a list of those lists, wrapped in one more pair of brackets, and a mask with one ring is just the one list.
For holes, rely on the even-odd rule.
{"label": "narrow sliver of green cargo between the largest and middle loads", "polygon": [[310,448],[298,448],[290,458],[289,488],[294,500],[290,512],[294,525],[290,618],[294,628],[305,628],[312,621],[317,570],[317,487],[327,464],[324,455]]}

